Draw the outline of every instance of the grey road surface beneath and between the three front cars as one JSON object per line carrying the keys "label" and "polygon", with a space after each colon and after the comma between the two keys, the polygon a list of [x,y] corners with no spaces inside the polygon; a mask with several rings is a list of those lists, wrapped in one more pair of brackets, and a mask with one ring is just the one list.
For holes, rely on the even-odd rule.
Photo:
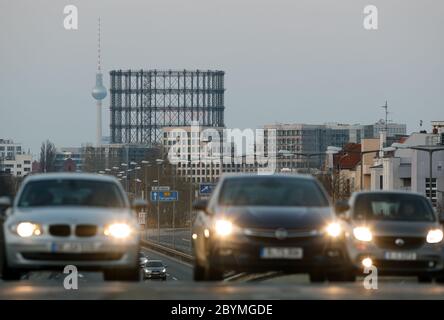
{"label": "grey road surface beneath and between the three front cars", "polygon": [[306,275],[240,274],[217,283],[192,281],[191,265],[144,248],[168,265],[167,281],[104,282],[100,273],[81,273],[78,290],[63,287],[62,273],[36,272],[1,282],[0,299],[444,299],[444,285],[413,278],[380,278],[377,290],[356,283],[311,284]]}

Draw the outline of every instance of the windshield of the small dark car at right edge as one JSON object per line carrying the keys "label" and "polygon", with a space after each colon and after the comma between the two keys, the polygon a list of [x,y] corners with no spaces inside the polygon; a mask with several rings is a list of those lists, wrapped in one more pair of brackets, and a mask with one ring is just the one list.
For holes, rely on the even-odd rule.
{"label": "windshield of the small dark car at right edge", "polygon": [[435,221],[433,209],[423,197],[409,194],[367,194],[356,199],[356,219]]}

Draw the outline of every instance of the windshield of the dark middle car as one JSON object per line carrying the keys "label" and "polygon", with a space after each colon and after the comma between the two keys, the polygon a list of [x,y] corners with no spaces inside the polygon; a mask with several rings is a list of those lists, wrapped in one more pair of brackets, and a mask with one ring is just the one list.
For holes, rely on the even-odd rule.
{"label": "windshield of the dark middle car", "polygon": [[327,198],[311,180],[293,178],[233,178],[224,182],[222,206],[327,207]]}

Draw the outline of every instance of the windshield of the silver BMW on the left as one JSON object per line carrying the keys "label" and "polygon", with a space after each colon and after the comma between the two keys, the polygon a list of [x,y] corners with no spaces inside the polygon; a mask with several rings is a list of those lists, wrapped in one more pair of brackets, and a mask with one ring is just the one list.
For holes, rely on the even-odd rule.
{"label": "windshield of the silver BMW on the left", "polygon": [[54,179],[26,184],[19,207],[80,206],[124,208],[119,188],[111,182]]}

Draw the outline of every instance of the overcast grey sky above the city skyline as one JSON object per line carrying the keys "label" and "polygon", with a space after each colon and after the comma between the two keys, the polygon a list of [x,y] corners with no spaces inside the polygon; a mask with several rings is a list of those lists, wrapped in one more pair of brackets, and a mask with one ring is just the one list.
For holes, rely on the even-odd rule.
{"label": "overcast grey sky above the city skyline", "polygon": [[[63,28],[68,4],[77,31]],[[0,138],[33,153],[95,140],[99,16],[108,88],[111,69],[224,70],[229,127],[372,123],[386,99],[409,131],[444,120],[444,1],[0,0]]]}

